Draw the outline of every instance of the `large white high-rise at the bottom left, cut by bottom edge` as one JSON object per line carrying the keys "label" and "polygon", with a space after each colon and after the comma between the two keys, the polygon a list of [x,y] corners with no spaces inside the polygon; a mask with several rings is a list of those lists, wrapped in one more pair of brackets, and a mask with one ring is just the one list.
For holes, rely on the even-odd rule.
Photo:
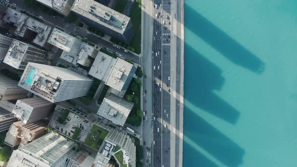
{"label": "large white high-rise at the bottom left, cut by bottom edge", "polygon": [[75,142],[51,132],[14,150],[7,166],[61,167],[75,146]]}

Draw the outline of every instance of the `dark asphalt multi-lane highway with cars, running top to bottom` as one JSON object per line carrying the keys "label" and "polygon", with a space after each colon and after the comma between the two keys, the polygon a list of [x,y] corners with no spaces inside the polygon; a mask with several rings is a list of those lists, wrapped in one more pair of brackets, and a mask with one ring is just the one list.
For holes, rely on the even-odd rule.
{"label": "dark asphalt multi-lane highway with cars, running top to bottom", "polygon": [[153,166],[170,166],[170,0],[154,1],[153,16]]}

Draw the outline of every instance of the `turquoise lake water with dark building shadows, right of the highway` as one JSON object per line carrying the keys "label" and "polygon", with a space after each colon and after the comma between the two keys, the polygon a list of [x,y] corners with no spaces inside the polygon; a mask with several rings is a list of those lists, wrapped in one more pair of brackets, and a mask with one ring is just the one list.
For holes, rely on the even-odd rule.
{"label": "turquoise lake water with dark building shadows, right of the highway", "polygon": [[296,0],[185,0],[184,166],[297,166],[296,57]]}

